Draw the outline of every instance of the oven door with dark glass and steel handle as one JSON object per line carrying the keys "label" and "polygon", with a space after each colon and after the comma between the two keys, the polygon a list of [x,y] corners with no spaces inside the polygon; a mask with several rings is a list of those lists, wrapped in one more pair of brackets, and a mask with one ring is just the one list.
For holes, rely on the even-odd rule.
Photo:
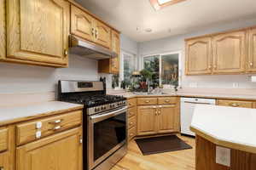
{"label": "oven door with dark glass and steel handle", "polygon": [[93,169],[127,143],[127,107],[88,119],[88,166]]}

